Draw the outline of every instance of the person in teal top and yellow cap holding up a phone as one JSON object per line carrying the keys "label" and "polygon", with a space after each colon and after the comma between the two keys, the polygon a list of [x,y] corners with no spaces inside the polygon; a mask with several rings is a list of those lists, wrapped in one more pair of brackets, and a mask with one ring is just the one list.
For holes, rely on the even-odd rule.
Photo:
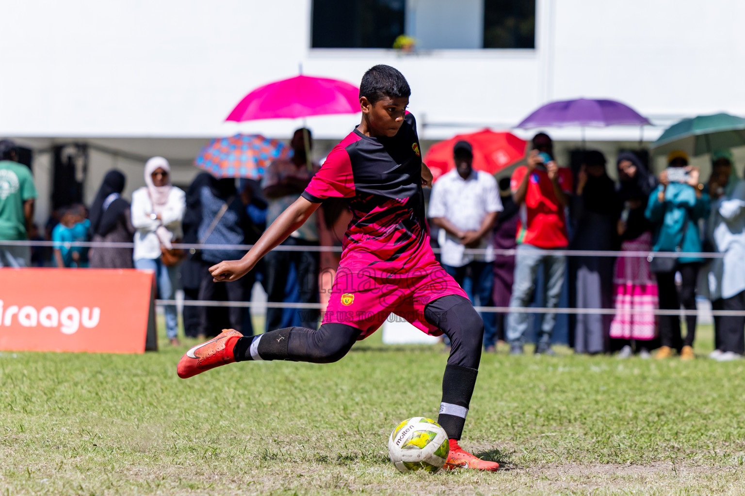
{"label": "person in teal top and yellow cap holding up a phone", "polygon": [[[659,181],[660,185],[650,195],[645,212],[655,228],[653,251],[700,252],[698,221],[708,217],[709,198],[699,182],[699,170],[688,167],[688,155],[676,150],[668,155],[668,169],[660,173]],[[699,257],[668,260],[656,257],[652,260],[650,268],[657,276],[661,309],[677,310],[682,303],[686,310],[696,310],[696,280],[702,261]],[[675,285],[676,271],[682,278],[680,294]],[[677,350],[684,360],[694,358],[696,315],[687,315],[685,322],[688,332],[683,341],[678,316],[660,315],[662,346],[656,358],[668,358],[673,350]]]}

